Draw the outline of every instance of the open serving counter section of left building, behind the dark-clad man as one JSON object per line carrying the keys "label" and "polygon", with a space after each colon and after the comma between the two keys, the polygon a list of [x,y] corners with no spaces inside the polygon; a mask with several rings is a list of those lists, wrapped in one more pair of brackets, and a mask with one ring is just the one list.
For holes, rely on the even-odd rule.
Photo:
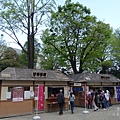
{"label": "open serving counter section of left building, behind the dark-clad man", "polygon": [[[57,85],[58,84],[58,85]],[[62,86],[59,85],[60,83],[56,82],[56,85],[52,86],[46,86],[45,87],[45,112],[55,112],[59,111],[59,104],[57,102],[57,96],[60,92],[60,89],[63,90],[64,95],[64,110],[69,110],[69,100],[68,100],[68,92],[69,92],[69,86],[65,86],[65,83],[63,83]],[[67,82],[66,82],[67,84]]]}

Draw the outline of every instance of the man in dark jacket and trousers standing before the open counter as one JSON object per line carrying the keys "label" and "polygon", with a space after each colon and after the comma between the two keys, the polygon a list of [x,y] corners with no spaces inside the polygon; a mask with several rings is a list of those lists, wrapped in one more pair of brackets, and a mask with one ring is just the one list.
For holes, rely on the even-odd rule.
{"label": "man in dark jacket and trousers standing before the open counter", "polygon": [[62,89],[60,90],[60,93],[58,94],[57,96],[57,101],[58,101],[58,104],[59,104],[59,107],[60,107],[60,110],[59,110],[59,115],[62,115],[63,114],[63,105],[64,105],[64,95],[62,93]]}

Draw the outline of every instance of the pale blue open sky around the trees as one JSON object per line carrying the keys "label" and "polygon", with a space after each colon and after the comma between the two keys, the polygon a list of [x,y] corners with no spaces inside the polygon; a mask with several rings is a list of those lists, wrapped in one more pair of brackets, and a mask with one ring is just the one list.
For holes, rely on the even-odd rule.
{"label": "pale blue open sky around the trees", "polygon": [[[120,27],[120,0],[72,0],[72,2],[79,2],[91,10],[91,15],[97,17],[97,20],[101,20],[104,23],[110,24],[113,29]],[[56,0],[57,5],[64,5],[65,0]],[[21,43],[24,45],[25,36],[19,34]],[[17,44],[13,43],[13,40],[4,35],[4,40],[9,46],[21,49]]]}

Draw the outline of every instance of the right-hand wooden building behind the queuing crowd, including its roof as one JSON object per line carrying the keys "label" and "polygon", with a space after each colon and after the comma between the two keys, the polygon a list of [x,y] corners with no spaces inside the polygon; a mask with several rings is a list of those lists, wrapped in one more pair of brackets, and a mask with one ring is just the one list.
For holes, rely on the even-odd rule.
{"label": "right-hand wooden building behind the queuing crowd, including its roof", "polygon": [[120,79],[110,74],[93,74],[81,73],[69,76],[74,82],[71,82],[71,87],[76,96],[75,105],[84,106],[84,88],[86,86],[86,94],[95,90],[109,90],[111,104],[120,103]]}

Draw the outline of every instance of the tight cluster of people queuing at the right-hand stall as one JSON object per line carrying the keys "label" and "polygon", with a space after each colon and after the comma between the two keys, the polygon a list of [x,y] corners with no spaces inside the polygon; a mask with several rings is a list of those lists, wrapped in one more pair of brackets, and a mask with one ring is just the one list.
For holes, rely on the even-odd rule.
{"label": "tight cluster of people queuing at the right-hand stall", "polygon": [[98,92],[92,91],[87,94],[87,106],[88,109],[93,109],[97,111],[102,108],[104,110],[109,110],[110,106],[110,93],[108,90],[100,90]]}

